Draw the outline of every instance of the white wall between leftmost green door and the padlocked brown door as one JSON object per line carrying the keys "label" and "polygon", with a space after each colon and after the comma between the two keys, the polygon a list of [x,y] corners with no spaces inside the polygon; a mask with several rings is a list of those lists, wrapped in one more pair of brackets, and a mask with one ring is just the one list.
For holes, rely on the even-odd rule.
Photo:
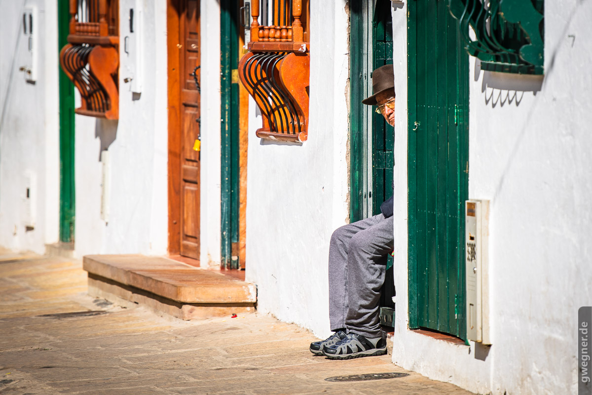
{"label": "white wall between leftmost green door and the padlocked brown door", "polygon": [[[143,81],[133,95],[126,78],[132,62],[124,52],[129,8],[120,2],[119,120],[76,115],[75,255],[164,255],[168,246],[168,102],[166,3],[143,1]],[[136,12],[137,18],[137,12]],[[78,105],[78,104],[77,104]],[[107,221],[101,218],[101,151],[108,150]]]}

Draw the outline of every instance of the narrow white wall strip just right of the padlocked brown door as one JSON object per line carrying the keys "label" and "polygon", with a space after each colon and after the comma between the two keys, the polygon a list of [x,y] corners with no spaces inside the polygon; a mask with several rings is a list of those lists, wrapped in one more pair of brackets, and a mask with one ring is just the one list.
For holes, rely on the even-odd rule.
{"label": "narrow white wall strip just right of the padlocked brown door", "polygon": [[200,264],[220,267],[220,2],[201,2]]}

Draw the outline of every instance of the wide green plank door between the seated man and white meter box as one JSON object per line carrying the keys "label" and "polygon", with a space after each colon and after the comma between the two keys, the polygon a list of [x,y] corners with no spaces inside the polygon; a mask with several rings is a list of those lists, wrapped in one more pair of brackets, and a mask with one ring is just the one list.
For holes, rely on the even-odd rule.
{"label": "wide green plank door between the seated man and white meter box", "polygon": [[468,55],[447,4],[407,2],[409,325],[466,339]]}

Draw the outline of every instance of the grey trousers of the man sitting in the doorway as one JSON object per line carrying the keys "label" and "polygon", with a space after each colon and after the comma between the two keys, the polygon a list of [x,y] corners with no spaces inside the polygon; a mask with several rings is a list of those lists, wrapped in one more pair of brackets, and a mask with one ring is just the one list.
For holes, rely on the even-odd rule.
{"label": "grey trousers of the man sitting in the doorway", "polygon": [[366,338],[381,336],[380,288],[394,246],[392,217],[382,214],[339,227],[329,246],[331,330],[347,328]]}

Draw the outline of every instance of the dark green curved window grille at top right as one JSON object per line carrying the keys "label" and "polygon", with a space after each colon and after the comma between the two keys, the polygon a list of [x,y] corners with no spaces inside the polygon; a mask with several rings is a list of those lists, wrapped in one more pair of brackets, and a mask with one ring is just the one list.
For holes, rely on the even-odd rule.
{"label": "dark green curved window grille at top right", "polygon": [[543,73],[543,0],[449,0],[449,7],[467,52],[481,60],[482,70]]}

